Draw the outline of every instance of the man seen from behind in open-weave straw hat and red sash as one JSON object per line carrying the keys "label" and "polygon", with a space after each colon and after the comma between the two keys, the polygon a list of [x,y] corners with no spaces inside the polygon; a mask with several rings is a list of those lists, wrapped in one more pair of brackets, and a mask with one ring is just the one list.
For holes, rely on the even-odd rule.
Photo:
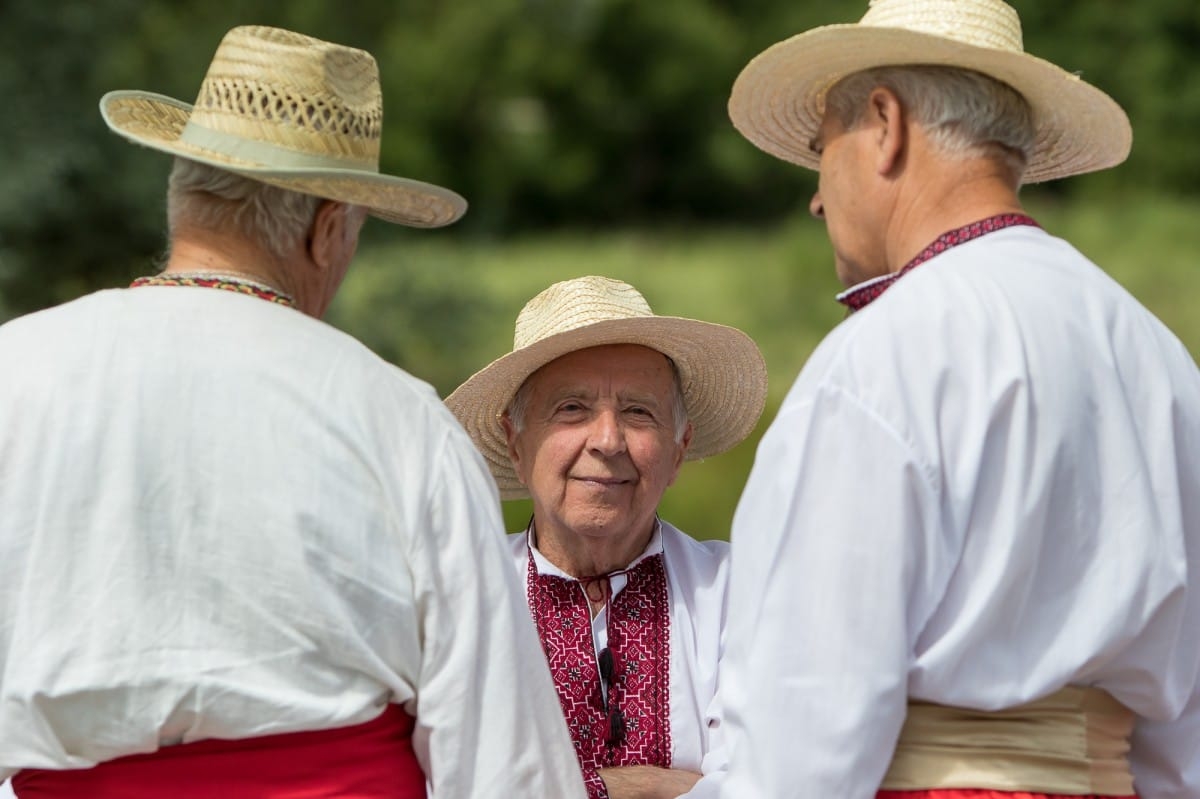
{"label": "man seen from behind in open-weave straw hat and red sash", "polygon": [[169,254],[0,329],[0,780],[582,797],[481,458],[319,322],[366,215],[466,208],[378,172],[374,59],[236,28],[194,106],[101,110],[176,158]]}

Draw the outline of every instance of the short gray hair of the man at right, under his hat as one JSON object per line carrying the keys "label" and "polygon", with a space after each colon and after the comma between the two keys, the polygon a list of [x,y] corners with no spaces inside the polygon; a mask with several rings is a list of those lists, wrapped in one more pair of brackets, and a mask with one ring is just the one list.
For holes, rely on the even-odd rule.
{"label": "short gray hair of the man at right, under his hat", "polygon": [[876,86],[892,90],[943,154],[1000,154],[1018,179],[1024,174],[1037,139],[1033,109],[1008,84],[956,67],[876,67],[834,84],[826,96],[826,114],[845,130],[857,127]]}

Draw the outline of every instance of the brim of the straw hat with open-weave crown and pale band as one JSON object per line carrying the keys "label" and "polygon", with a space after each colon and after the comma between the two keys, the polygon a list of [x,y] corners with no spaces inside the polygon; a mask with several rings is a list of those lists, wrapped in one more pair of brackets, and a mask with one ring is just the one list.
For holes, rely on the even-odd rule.
{"label": "brim of the straw hat with open-weave crown and pale band", "polygon": [[386,222],[439,228],[467,211],[457,193],[419,180],[365,169],[281,168],[196,146],[180,139],[191,112],[190,103],[148,91],[110,91],[100,101],[109,128],[136,144],[271,186],[361,205]]}

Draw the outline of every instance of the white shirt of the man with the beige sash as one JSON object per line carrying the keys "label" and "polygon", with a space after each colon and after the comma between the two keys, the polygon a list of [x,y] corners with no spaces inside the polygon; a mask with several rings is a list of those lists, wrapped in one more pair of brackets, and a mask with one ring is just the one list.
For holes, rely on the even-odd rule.
{"label": "white shirt of the man with the beige sash", "polygon": [[832,331],[732,542],[725,799],[869,799],[906,698],[1068,684],[1140,716],[1142,799],[1200,797],[1200,373],[1067,242],[984,235]]}

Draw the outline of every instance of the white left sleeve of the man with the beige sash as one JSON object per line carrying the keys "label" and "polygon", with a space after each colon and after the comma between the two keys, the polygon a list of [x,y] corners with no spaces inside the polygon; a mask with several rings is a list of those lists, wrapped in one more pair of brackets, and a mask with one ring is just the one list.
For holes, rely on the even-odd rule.
{"label": "white left sleeve of the man with the beige sash", "polygon": [[733,521],[720,797],[875,795],[938,590],[930,474],[838,388],[785,403]]}

